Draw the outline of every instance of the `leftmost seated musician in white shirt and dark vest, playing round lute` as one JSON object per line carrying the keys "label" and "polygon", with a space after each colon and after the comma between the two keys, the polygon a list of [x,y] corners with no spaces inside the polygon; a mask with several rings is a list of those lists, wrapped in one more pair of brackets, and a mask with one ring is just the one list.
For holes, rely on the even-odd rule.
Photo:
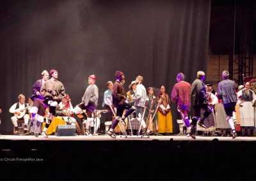
{"label": "leftmost seated musician in white shirt and dark vest, playing round lute", "polygon": [[24,120],[24,133],[28,131],[28,121],[29,121],[29,115],[28,115],[28,103],[25,103],[25,96],[23,94],[20,94],[18,96],[19,102],[15,103],[11,106],[9,112],[13,113],[12,116],[12,124],[14,126],[14,133],[18,133],[18,120]]}

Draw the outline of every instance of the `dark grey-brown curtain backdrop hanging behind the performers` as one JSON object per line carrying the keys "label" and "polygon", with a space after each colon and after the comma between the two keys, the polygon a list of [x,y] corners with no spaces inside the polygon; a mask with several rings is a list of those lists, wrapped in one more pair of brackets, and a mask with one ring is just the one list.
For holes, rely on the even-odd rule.
{"label": "dark grey-brown curtain backdrop hanging behind the performers", "polygon": [[[31,96],[44,69],[58,70],[73,106],[91,74],[99,108],[116,70],[125,73],[125,91],[138,75],[168,93],[179,72],[193,82],[206,71],[210,12],[210,0],[1,1],[1,134],[12,134],[8,110],[20,93]],[[175,122],[173,103],[172,115]]]}

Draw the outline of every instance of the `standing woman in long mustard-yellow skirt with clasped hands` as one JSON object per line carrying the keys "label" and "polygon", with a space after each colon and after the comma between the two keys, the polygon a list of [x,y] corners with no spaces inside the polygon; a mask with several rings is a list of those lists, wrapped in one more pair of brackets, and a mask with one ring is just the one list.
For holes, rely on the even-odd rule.
{"label": "standing woman in long mustard-yellow skirt with clasped hands", "polygon": [[157,95],[158,108],[158,131],[157,133],[173,133],[172,113],[170,112],[170,97],[165,92],[164,85],[161,85]]}

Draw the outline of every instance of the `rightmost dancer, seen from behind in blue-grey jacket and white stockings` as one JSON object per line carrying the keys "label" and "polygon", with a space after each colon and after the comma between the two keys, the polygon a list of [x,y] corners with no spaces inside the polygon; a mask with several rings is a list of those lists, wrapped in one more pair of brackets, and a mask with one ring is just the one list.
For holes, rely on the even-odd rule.
{"label": "rightmost dancer, seen from behind in blue-grey jacket and white stockings", "polygon": [[217,93],[218,98],[221,99],[227,114],[227,122],[232,129],[232,138],[236,138],[236,130],[234,121],[232,120],[233,112],[235,112],[237,103],[236,83],[233,80],[228,79],[228,76],[228,71],[223,71],[223,80],[218,83]]}

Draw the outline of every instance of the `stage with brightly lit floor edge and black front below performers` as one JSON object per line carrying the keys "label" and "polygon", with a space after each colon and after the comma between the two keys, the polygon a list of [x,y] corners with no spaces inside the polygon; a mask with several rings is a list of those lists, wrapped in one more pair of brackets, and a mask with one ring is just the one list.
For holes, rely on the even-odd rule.
{"label": "stage with brightly lit floor edge and black front below performers", "polygon": [[255,161],[255,141],[256,137],[220,136],[193,140],[186,136],[1,135],[0,165],[1,171],[22,180],[28,178],[24,170],[32,169],[29,177],[34,178],[36,168],[40,174],[54,173],[52,179],[57,180],[218,180],[220,175],[221,180],[246,180],[250,175],[244,173],[254,170],[250,163]]}

